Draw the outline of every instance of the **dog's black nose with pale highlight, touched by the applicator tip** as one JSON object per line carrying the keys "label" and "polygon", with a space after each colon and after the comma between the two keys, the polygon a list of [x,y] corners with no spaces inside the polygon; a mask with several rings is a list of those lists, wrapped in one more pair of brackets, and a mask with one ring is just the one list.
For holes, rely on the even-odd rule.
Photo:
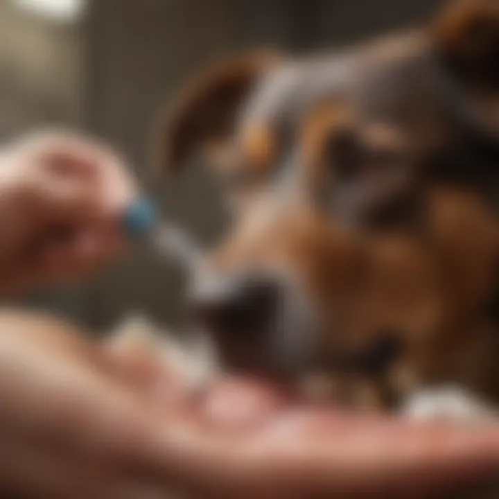
{"label": "dog's black nose with pale highlight, touched by the applicator tip", "polygon": [[211,333],[249,334],[268,332],[279,308],[281,286],[271,277],[213,279],[191,297],[200,324]]}

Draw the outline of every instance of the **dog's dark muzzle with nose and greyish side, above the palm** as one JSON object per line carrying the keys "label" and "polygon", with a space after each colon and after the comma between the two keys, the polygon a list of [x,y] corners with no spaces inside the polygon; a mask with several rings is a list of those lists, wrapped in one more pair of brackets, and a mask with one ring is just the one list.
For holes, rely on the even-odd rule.
{"label": "dog's dark muzzle with nose and greyish side, above the palm", "polygon": [[284,376],[308,360],[310,320],[304,299],[286,279],[265,274],[204,278],[191,310],[228,369]]}

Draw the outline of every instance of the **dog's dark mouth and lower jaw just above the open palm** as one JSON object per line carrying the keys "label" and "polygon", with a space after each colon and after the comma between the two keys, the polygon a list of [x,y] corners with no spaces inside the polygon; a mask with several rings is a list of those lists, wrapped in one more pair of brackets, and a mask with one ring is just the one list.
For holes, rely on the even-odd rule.
{"label": "dog's dark mouth and lower jaw just above the open palm", "polygon": [[[399,336],[385,331],[363,347],[338,352],[324,360],[319,358],[317,345],[306,344],[301,339],[310,342],[314,337],[310,330],[292,333],[300,338],[295,347],[301,349],[293,350],[288,344],[287,353],[263,347],[248,351],[238,342],[220,342],[220,365],[232,376],[265,380],[304,403],[315,401],[355,412],[374,408],[392,412],[403,401],[396,377],[391,376],[404,351]],[[374,399],[362,395],[369,389],[375,390]]]}

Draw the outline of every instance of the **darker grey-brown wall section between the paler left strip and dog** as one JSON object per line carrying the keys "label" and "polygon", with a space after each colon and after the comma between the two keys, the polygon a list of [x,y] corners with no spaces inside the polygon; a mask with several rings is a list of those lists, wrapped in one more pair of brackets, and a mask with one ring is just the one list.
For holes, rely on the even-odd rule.
{"label": "darker grey-brown wall section between the paler left strip and dog", "polygon": [[[124,150],[145,184],[159,106],[193,70],[254,46],[334,46],[425,19],[436,0],[98,0],[86,26],[86,124]],[[218,193],[193,173],[151,186],[164,213],[202,240],[220,230]],[[85,319],[110,324],[128,310],[182,317],[182,275],[139,252],[85,290]]]}

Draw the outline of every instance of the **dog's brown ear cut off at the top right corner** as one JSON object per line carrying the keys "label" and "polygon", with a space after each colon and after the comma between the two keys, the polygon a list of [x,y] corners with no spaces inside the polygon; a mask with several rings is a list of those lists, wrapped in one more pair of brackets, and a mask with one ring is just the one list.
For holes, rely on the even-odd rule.
{"label": "dog's brown ear cut off at the top right corner", "polygon": [[499,1],[455,0],[438,17],[434,40],[465,85],[499,92]]}

